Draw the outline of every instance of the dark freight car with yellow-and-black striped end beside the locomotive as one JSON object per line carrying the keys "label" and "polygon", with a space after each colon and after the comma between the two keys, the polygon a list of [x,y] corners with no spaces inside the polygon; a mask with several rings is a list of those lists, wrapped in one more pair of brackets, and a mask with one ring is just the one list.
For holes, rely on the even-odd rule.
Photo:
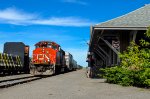
{"label": "dark freight car with yellow-and-black striped end beside the locomotive", "polygon": [[29,46],[22,42],[6,42],[0,53],[0,74],[29,73]]}

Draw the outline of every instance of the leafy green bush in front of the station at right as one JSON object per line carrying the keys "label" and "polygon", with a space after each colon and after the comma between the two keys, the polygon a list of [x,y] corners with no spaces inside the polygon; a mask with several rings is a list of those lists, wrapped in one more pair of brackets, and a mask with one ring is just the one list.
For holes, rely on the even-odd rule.
{"label": "leafy green bush in front of the station at right", "polygon": [[[145,33],[150,38],[150,28]],[[142,46],[131,42],[125,52],[120,54],[119,66],[101,69],[107,82],[123,86],[150,87],[150,42],[140,40]]]}

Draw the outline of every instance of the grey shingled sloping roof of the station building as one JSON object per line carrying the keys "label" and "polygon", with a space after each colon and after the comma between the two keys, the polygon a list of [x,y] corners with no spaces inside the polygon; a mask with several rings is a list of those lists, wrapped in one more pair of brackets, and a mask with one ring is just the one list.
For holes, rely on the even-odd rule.
{"label": "grey shingled sloping roof of the station building", "polygon": [[150,26],[150,4],[147,4],[135,11],[123,16],[117,17],[106,22],[96,24],[99,28],[131,28],[131,27],[149,27]]}

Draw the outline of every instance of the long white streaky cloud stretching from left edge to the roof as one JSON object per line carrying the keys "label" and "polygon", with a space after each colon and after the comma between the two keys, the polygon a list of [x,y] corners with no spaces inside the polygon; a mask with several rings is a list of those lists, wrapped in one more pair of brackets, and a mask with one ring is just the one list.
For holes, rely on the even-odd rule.
{"label": "long white streaky cloud stretching from left edge to the roof", "polygon": [[0,10],[0,23],[15,25],[90,26],[93,22],[77,17],[41,18],[14,8]]}

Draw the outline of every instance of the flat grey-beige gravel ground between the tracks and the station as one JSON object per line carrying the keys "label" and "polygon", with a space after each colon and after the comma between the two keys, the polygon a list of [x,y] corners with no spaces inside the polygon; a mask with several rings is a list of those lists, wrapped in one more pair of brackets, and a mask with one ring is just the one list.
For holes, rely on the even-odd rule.
{"label": "flat grey-beige gravel ground between the tracks and the station", "polygon": [[150,99],[150,90],[107,84],[78,70],[0,89],[0,99]]}

